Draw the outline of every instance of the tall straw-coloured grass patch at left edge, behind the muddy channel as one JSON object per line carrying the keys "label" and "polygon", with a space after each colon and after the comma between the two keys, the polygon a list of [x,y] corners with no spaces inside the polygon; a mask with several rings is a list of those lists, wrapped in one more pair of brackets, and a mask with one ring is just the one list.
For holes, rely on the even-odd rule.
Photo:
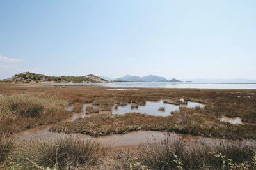
{"label": "tall straw-coloured grass patch at left edge, behind the muddy channel", "polygon": [[6,133],[59,121],[70,113],[67,100],[42,93],[3,95],[0,103],[0,132]]}

